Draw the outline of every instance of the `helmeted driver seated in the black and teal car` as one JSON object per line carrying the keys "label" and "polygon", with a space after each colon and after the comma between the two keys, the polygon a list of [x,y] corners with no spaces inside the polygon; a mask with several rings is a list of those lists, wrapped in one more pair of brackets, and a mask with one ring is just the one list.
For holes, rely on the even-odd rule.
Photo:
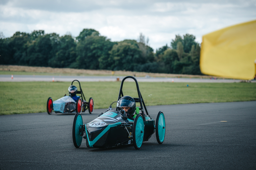
{"label": "helmeted driver seated in the black and teal car", "polygon": [[136,102],[131,96],[125,95],[121,97],[118,100],[117,106],[126,112],[129,119],[134,120],[133,115],[135,115]]}

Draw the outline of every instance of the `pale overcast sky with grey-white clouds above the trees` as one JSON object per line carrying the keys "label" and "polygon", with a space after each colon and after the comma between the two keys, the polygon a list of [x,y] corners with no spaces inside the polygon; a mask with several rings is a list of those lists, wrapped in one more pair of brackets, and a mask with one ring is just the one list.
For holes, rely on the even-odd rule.
{"label": "pale overcast sky with grey-white clouds above the trees", "polygon": [[256,0],[0,0],[0,32],[45,30],[76,37],[92,28],[112,41],[149,37],[155,50],[175,35],[202,35],[256,20]]}

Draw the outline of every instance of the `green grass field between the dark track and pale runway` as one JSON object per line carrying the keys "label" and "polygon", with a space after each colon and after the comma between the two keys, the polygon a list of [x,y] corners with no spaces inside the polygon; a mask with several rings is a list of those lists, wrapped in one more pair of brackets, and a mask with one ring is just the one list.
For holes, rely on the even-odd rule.
{"label": "green grass field between the dark track and pale runway", "polygon": [[[48,97],[68,94],[69,82],[0,82],[0,115],[46,112]],[[95,109],[117,100],[120,82],[81,82],[86,100]],[[148,83],[139,88],[146,105],[173,105],[256,100],[256,83]],[[134,82],[125,82],[124,95],[137,97]],[[86,111],[88,112],[88,111]]]}

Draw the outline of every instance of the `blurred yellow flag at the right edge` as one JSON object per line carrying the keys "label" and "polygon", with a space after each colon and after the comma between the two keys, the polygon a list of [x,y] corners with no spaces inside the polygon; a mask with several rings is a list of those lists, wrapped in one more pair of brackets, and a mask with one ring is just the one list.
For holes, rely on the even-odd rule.
{"label": "blurred yellow flag at the right edge", "polygon": [[205,75],[253,79],[256,75],[256,20],[203,35],[200,69]]}

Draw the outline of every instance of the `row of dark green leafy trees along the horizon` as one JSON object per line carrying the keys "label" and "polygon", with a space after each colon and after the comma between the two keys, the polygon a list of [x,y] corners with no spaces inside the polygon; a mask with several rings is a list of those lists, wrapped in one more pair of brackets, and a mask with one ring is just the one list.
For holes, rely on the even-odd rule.
{"label": "row of dark green leafy trees along the horizon", "polygon": [[200,45],[194,35],[176,35],[154,50],[141,33],[139,40],[112,42],[94,29],[84,29],[77,37],[16,32],[10,38],[0,34],[0,63],[53,68],[127,70],[151,73],[201,75]]}

